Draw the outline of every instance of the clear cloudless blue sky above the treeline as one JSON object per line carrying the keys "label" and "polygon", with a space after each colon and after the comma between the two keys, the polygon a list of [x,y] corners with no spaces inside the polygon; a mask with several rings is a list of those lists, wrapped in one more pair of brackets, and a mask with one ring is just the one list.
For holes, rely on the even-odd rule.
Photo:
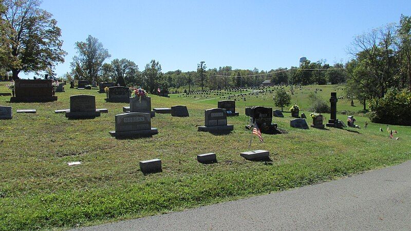
{"label": "clear cloudless blue sky above the treeline", "polygon": [[346,61],[355,35],[411,15],[410,0],[44,0],[42,8],[58,21],[68,53],[55,69],[59,76],[70,70],[74,43],[88,34],[108,49],[106,62],[126,58],[140,70],[152,59],[163,72],[195,70],[200,61],[271,70],[296,66],[301,56]]}

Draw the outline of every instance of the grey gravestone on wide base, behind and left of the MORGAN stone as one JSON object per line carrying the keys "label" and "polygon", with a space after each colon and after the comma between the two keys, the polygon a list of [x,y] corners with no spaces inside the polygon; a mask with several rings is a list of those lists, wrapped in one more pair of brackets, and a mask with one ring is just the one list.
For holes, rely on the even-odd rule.
{"label": "grey gravestone on wide base, behind and left of the MORGAN stone", "polygon": [[78,94],[70,96],[70,111],[66,111],[69,119],[95,118],[100,116],[96,110],[96,97],[94,95]]}

